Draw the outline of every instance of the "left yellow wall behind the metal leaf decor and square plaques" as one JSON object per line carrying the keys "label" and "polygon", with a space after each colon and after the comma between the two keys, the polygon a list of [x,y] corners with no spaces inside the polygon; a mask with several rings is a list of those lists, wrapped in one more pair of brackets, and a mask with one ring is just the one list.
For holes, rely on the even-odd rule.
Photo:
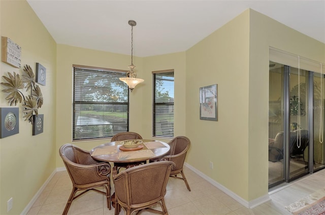
{"label": "left yellow wall behind the metal leaf decor and square plaques", "polygon": [[[44,131],[32,135],[32,125],[24,121],[23,108],[19,107],[19,133],[0,139],[0,214],[20,214],[55,170],[55,103],[56,103],[56,44],[26,1],[0,1],[1,36],[21,46],[21,68],[4,62],[0,64],[2,76],[8,72],[23,74],[23,65],[34,71],[36,62],[46,67],[46,86],[39,85],[44,104]],[[4,87],[0,86],[3,90]],[[25,89],[22,91],[27,93]],[[7,94],[0,92],[0,106],[9,107]],[[7,201],[13,198],[13,208],[7,213]]]}

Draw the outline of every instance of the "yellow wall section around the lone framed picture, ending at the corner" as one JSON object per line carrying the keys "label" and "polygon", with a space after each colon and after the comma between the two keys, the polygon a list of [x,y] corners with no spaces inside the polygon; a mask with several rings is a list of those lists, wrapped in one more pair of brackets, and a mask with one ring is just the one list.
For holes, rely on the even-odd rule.
{"label": "yellow wall section around the lone framed picture, ending at the corner", "polygon": [[[193,143],[187,162],[244,199],[248,199],[248,57],[248,11],[186,51],[186,135]],[[217,122],[199,117],[199,88],[212,84],[218,85]]]}

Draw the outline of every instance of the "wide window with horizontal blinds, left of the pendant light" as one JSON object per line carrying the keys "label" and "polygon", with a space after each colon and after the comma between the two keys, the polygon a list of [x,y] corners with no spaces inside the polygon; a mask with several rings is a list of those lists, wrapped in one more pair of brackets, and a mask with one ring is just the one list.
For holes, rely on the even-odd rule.
{"label": "wide window with horizontal blinds, left of the pendant light", "polygon": [[128,88],[116,69],[73,65],[73,139],[128,131]]}

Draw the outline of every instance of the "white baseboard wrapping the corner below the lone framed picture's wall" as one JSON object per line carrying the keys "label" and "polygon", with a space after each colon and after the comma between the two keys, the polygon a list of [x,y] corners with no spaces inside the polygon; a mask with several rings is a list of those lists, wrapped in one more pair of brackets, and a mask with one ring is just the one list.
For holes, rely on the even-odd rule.
{"label": "white baseboard wrapping the corner below the lone framed picture's wall", "polygon": [[239,203],[241,203],[242,205],[244,205],[247,208],[253,208],[253,207],[256,207],[256,206],[258,206],[260,204],[263,204],[263,203],[271,200],[269,194],[266,194],[266,195],[261,196],[261,197],[259,197],[257,199],[254,199],[254,200],[251,200],[251,201],[247,201],[247,200],[243,199],[242,197],[238,196],[233,191],[231,191],[228,188],[224,187],[223,185],[217,183],[211,177],[205,175],[203,172],[201,172],[198,169],[194,168],[193,166],[189,165],[188,163],[184,163],[184,165],[186,167],[188,167],[190,170],[192,170],[193,172],[195,172],[198,175],[200,175],[201,177],[203,177],[210,184],[212,184],[213,186],[215,186],[219,190],[223,191],[225,194],[229,195],[230,197],[232,197],[233,199],[235,199],[236,201],[238,201]]}

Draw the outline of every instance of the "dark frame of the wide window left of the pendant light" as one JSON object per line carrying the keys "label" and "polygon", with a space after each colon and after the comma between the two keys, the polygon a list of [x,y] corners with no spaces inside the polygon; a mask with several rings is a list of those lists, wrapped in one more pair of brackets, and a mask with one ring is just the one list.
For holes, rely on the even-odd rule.
{"label": "dark frame of the wide window left of the pendant light", "polygon": [[[125,77],[127,70],[120,70],[120,69],[111,69],[111,68],[103,68],[103,67],[95,67],[95,66],[85,66],[85,65],[77,65],[77,64],[73,64],[73,68],[72,68],[72,75],[73,75],[73,98],[72,98],[72,141],[82,141],[82,140],[90,140],[90,139],[106,139],[106,138],[111,138],[114,134],[118,133],[118,132],[114,132],[109,136],[87,136],[87,137],[76,137],[76,127],[78,125],[76,125],[76,105],[79,104],[94,104],[94,105],[126,105],[126,129],[123,131],[128,131],[129,130],[129,90],[127,85],[125,84],[125,89],[127,90],[127,101],[126,102],[112,102],[112,101],[82,101],[82,100],[76,100],[76,84],[79,84],[79,86],[81,87],[80,83],[75,83],[75,76],[76,76],[76,69],[79,70],[93,70],[95,73],[105,73],[105,74],[114,74],[114,75],[121,75],[121,77]],[[122,84],[124,84],[121,81]],[[119,83],[120,84],[120,83]],[[96,126],[96,125],[95,125]],[[100,124],[98,124],[97,126],[101,126]],[[114,127],[114,124],[112,125],[112,128]],[[98,131],[100,133],[100,130]],[[119,131],[120,132],[120,131]]]}

